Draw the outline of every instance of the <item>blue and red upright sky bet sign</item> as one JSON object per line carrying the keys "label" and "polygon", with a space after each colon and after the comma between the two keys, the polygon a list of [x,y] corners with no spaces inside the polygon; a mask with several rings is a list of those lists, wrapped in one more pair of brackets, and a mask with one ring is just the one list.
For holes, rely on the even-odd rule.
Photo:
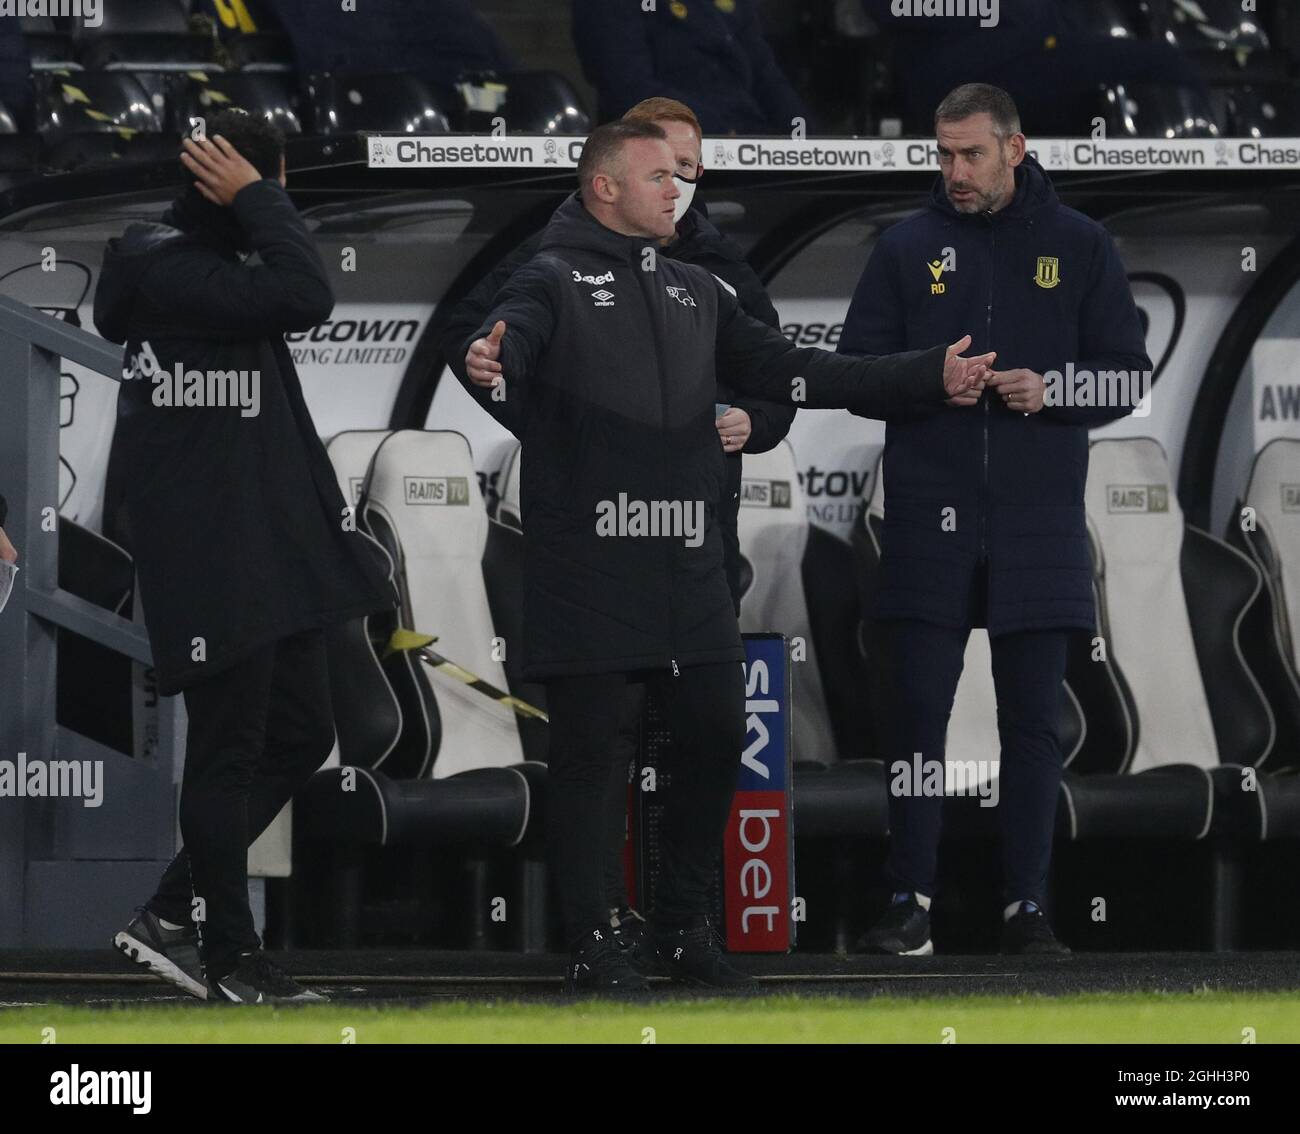
{"label": "blue and red upright sky bet sign", "polygon": [[723,843],[723,912],[733,953],[794,945],[790,663],[781,635],[745,635],[745,750]]}

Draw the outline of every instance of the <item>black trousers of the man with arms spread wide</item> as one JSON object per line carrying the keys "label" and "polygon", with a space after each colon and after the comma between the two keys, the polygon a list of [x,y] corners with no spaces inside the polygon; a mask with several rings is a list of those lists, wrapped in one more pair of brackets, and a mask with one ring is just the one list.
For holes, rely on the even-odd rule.
{"label": "black trousers of the man with arms spread wide", "polygon": [[680,926],[708,913],[708,887],[745,745],[744,666],[682,666],[677,678],[667,670],[552,678],[546,683],[546,835],[569,943],[610,923],[607,873],[616,843],[610,824],[621,822],[610,806],[611,782],[621,761],[625,798],[628,685],[634,681],[655,683],[673,737],[666,769],[671,787],[660,780],[663,874],[653,916],[659,925]]}

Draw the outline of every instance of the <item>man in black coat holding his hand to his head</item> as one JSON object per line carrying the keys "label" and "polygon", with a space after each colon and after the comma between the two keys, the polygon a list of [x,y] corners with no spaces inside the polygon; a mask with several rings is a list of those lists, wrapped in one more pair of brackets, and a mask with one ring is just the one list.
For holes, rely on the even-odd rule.
{"label": "man in black coat holding his hand to his head", "polygon": [[261,951],[247,850],[333,748],[322,628],[394,597],[283,341],[334,306],[283,137],[238,112],[208,135],[186,139],[194,183],[162,222],[109,242],[95,294],[126,343],[110,460],[159,689],[188,714],[183,849],[114,944],[202,997],[320,999]]}

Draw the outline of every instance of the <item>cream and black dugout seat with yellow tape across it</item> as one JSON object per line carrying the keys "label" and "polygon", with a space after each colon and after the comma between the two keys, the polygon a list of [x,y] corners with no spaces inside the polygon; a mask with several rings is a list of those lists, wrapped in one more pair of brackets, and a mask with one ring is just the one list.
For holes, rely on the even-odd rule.
{"label": "cream and black dugout seat with yellow tape across it", "polygon": [[387,649],[399,626],[436,635],[439,654],[510,688],[502,652],[508,658],[519,639],[495,624],[486,577],[502,562],[517,564],[519,533],[488,518],[459,433],[352,430],[328,453],[399,603],[332,632],[341,766],[317,772],[298,797],[298,836],[333,860],[333,940],[359,942],[367,848],[441,847],[514,856],[524,910],[512,918],[516,944],[540,949],[545,763],[525,759],[510,709]]}

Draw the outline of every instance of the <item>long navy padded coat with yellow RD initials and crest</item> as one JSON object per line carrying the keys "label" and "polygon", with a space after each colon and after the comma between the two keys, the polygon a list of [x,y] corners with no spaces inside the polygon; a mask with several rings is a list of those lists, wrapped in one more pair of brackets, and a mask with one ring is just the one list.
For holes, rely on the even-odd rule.
{"label": "long navy padded coat with yellow RD initials and crest", "polygon": [[[967,354],[996,350],[1000,371],[1065,373],[1072,362],[1075,371],[1149,372],[1138,307],[1110,235],[1061,204],[1032,157],[1015,179],[1006,208],[963,215],[940,178],[928,207],[878,242],[840,351],[890,354],[968,333]],[[945,248],[956,252],[956,270],[936,282],[930,265]],[[1036,282],[1040,257],[1058,261],[1056,286]],[[976,406],[887,417],[878,615],[987,624],[992,635],[1092,629],[1083,508],[1088,427],[1128,412],[1044,406],[1026,416],[988,389]],[[954,531],[945,531],[945,508],[956,510]],[[982,559],[987,592],[976,583]]]}

